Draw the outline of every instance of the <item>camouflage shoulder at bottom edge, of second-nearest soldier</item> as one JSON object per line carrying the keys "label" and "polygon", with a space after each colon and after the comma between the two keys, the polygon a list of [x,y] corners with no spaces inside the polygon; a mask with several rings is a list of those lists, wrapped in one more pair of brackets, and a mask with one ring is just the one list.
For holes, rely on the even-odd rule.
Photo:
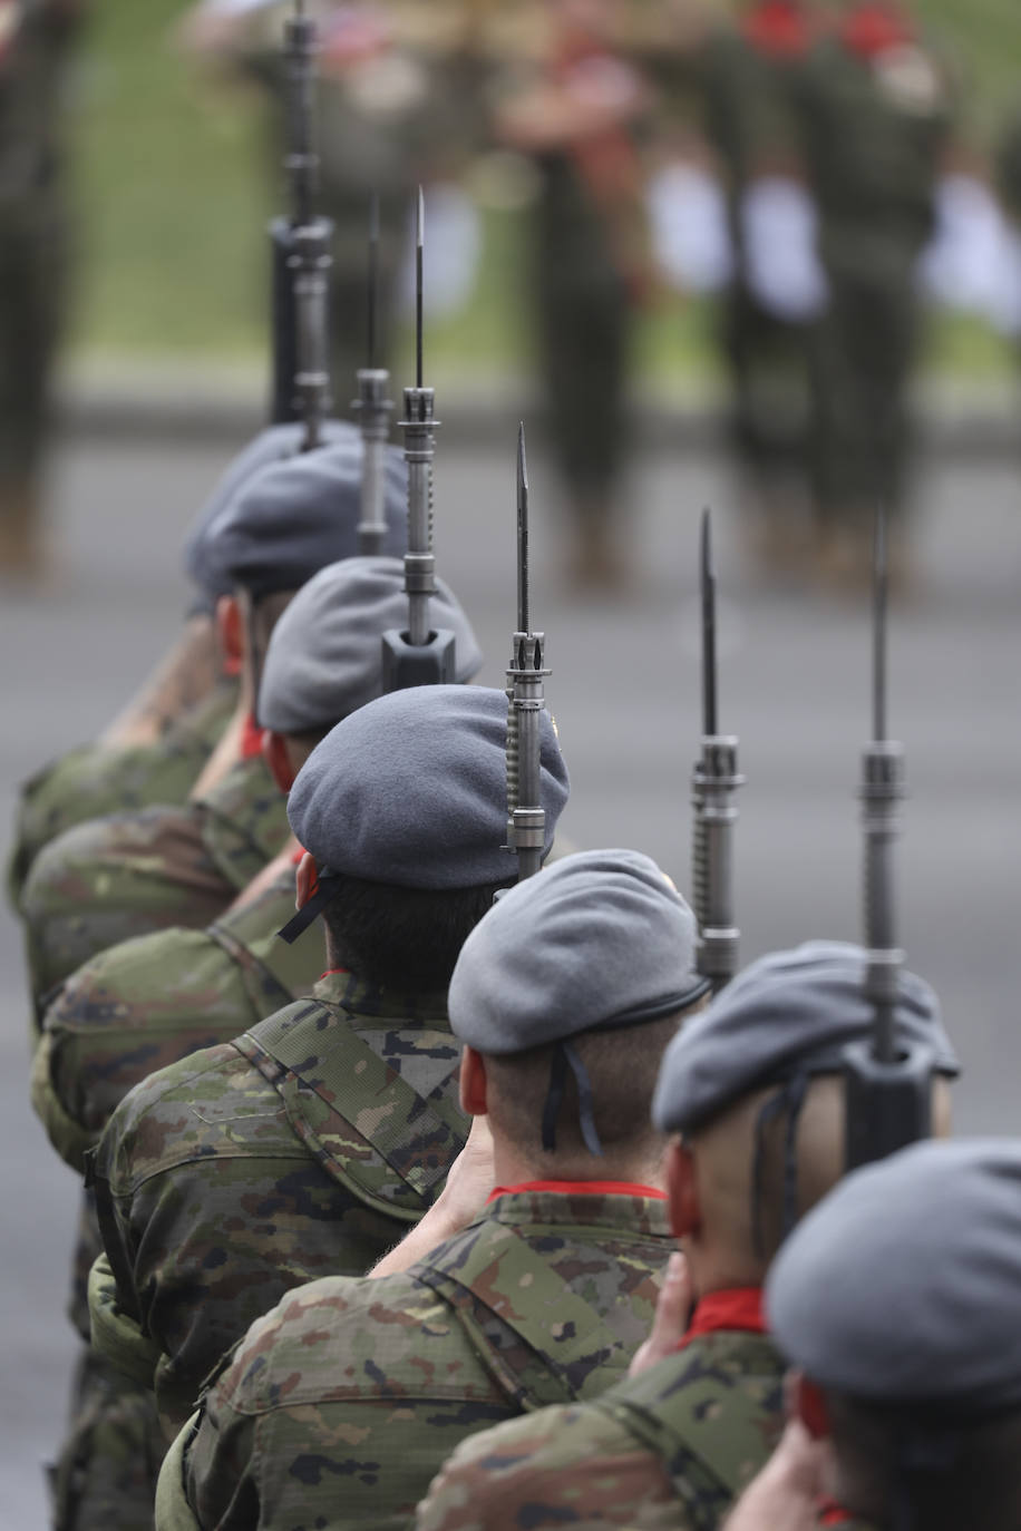
{"label": "camouflage shoulder at bottom edge, of second-nearest soldier", "polygon": [[415,1531],[690,1531],[660,1459],[586,1405],[543,1409],[462,1441]]}

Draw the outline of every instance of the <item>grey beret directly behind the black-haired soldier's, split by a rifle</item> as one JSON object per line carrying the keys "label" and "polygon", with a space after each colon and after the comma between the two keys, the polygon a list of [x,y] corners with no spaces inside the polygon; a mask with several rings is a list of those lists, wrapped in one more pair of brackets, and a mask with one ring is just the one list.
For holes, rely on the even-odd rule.
{"label": "grey beret directly behind the black-haired soldier's, split by a rifle", "polygon": [[[482,666],[471,623],[441,579],[436,628],[455,634],[458,680]],[[259,723],[280,733],[328,729],[383,689],[383,634],[407,625],[400,559],[343,559],[298,591],[272,629],[259,687]]]}

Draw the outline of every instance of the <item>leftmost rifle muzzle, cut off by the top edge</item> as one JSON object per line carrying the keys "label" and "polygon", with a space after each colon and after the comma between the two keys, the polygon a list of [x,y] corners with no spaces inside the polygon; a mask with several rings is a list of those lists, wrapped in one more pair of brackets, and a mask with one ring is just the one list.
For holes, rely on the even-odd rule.
{"label": "leftmost rifle muzzle, cut off by the top edge", "polygon": [[289,217],[269,225],[272,246],[272,419],[305,421],[303,449],[318,446],[329,398],[329,245],[334,225],[312,211],[318,156],[312,144],[315,23],[294,0],[285,26]]}

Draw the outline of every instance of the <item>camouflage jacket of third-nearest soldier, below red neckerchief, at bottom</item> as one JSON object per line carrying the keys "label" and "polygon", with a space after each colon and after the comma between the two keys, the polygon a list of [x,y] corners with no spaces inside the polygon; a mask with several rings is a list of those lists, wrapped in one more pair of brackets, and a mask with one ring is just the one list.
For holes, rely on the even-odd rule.
{"label": "camouflage jacket of third-nearest soldier, below red neckerchief, at bottom", "polygon": [[670,1248],[663,1200],[522,1190],[404,1274],[306,1286],[182,1431],[158,1526],[407,1526],[467,1435],[623,1375]]}

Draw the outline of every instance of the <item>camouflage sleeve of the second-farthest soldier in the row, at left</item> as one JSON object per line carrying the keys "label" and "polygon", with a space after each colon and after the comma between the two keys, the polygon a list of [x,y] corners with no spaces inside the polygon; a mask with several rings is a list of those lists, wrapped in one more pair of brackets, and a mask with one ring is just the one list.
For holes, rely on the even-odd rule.
{"label": "camouflage sleeve of the second-farthest soldier in the row, at left", "polygon": [[107,946],[168,925],[210,925],[288,833],[286,799],[259,755],[185,807],[67,830],[37,857],[21,897],[37,1006]]}

